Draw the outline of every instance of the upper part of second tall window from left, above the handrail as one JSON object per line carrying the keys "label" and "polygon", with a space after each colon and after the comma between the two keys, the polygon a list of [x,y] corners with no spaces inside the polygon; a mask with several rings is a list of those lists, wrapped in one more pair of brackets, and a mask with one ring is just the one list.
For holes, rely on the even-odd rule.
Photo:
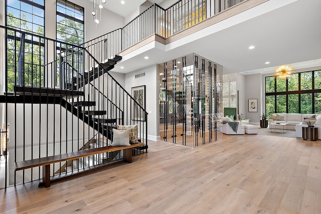
{"label": "upper part of second tall window from left, above the handrail", "polygon": [[68,1],[57,1],[57,40],[73,45],[84,43],[83,8]]}

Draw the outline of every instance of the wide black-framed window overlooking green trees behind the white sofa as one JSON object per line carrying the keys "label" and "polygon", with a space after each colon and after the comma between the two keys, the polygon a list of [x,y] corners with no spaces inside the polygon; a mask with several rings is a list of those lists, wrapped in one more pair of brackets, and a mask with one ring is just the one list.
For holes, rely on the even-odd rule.
{"label": "wide black-framed window overlooking green trees behind the white sofa", "polygon": [[272,113],[320,113],[321,70],[295,73],[287,79],[265,78],[265,109]]}

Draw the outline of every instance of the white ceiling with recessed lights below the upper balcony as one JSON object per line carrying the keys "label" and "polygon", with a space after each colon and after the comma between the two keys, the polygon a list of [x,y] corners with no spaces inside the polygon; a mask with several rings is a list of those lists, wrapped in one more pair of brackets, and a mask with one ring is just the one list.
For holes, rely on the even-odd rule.
{"label": "white ceiling with recessed lights below the upper balcony", "polygon": [[[254,13],[259,13],[259,10],[264,11],[271,4],[280,4],[278,1],[270,0],[246,12],[250,14],[243,12],[216,25],[237,22],[237,19],[242,20],[245,16],[251,17]],[[282,1],[285,2],[285,0]],[[140,53],[137,50],[132,56],[124,56],[113,71],[128,73],[191,53],[222,65],[224,74],[271,73],[275,67],[283,64],[292,64],[296,69],[321,66],[321,25],[319,23],[321,1],[289,1],[294,2],[288,5],[285,3],[283,7],[267,13],[265,11],[228,28],[225,27],[210,34],[204,33],[205,36],[197,39],[195,39],[197,36],[193,37],[193,35],[183,38],[185,45],[175,47],[175,43],[167,46],[156,44],[153,48],[143,48]],[[107,2],[120,2],[120,0]],[[130,8],[137,8],[144,0],[126,0],[125,2],[133,4]],[[119,13],[116,10],[114,12]],[[210,26],[204,32],[211,29],[215,28]],[[203,34],[203,32],[198,33]],[[249,50],[250,45],[255,48]],[[144,60],[144,56],[149,56],[149,59]],[[266,65],[267,61],[270,64]],[[120,69],[121,66],[124,69]]]}

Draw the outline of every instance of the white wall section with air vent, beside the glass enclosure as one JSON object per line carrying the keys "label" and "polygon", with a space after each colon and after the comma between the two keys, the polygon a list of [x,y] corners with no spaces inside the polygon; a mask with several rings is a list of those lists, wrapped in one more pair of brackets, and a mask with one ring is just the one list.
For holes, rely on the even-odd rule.
{"label": "white wall section with air vent, beside the glass enclosure", "polygon": [[[135,74],[144,73],[144,77],[135,79]],[[146,111],[148,113],[148,139],[159,140],[157,66],[152,65],[125,75],[125,89],[130,93],[132,87],[146,86]]]}

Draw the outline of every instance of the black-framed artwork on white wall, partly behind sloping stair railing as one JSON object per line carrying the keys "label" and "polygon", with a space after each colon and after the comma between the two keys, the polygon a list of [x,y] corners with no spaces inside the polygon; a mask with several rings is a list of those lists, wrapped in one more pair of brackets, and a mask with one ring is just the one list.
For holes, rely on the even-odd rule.
{"label": "black-framed artwork on white wall, partly behind sloping stair railing", "polygon": [[[136,100],[136,102],[143,108],[146,109],[146,86],[137,86],[131,88],[131,96]],[[133,102],[131,108],[131,119],[145,121],[144,111],[140,108],[140,106]]]}

